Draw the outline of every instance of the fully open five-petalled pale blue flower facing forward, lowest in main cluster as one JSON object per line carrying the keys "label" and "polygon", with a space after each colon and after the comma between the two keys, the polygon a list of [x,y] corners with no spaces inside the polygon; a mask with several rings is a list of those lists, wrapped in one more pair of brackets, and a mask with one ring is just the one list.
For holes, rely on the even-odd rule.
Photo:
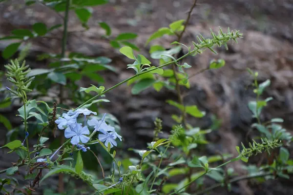
{"label": "fully open five-petalled pale blue flower facing forward, lowest in main cluster", "polygon": [[82,143],[86,143],[89,140],[89,137],[86,137],[84,135],[88,135],[89,130],[87,126],[82,127],[82,124],[76,124],[74,127],[69,126],[65,129],[64,136],[66,138],[71,138],[70,142],[73,145],[77,145],[80,141]]}

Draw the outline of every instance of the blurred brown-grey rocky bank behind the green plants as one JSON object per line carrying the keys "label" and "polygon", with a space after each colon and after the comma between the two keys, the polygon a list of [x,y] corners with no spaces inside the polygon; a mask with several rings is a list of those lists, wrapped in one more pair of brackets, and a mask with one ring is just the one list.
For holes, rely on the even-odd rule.
{"label": "blurred brown-grey rocky bank behind the green plants", "polygon": [[[132,76],[133,71],[126,69],[126,64],[130,61],[102,38],[104,30],[98,22],[103,20],[110,24],[113,36],[122,32],[137,33],[139,36],[134,42],[141,49],[140,53],[149,57],[149,45],[145,46],[149,36],[172,21],[186,19],[191,4],[191,0],[110,0],[110,3],[93,8],[88,31],[84,31],[74,13],[70,13],[67,52],[112,59],[110,65],[118,71],[103,72],[105,88],[111,87]],[[9,35],[13,29],[30,29],[37,21],[48,26],[58,24],[61,17],[42,4],[25,6],[22,0],[5,1],[0,3],[0,37]],[[250,132],[252,118],[247,104],[255,96],[247,68],[259,72],[259,82],[268,78],[272,81],[265,96],[273,97],[273,100],[269,102],[261,119],[282,117],[285,128],[293,132],[293,0],[198,0],[181,42],[190,45],[199,33],[209,37],[209,29],[217,31],[218,26],[224,31],[227,27],[240,30],[244,38],[238,44],[228,44],[228,51],[216,48],[218,55],[206,51],[202,55],[184,59],[192,66],[188,69],[190,76],[208,67],[212,59],[221,58],[226,61],[225,67],[221,69],[191,77],[190,89],[184,90],[186,104],[198,105],[199,109],[207,112],[204,118],[188,118],[190,124],[209,128],[213,122],[212,116],[222,120],[221,127],[207,135],[210,141],[207,155],[215,155],[218,151],[234,154],[235,146],[245,140]],[[32,68],[45,67],[46,61],[37,61],[36,56],[44,52],[60,53],[61,38],[62,31],[59,30],[54,31],[51,38],[33,40],[27,63]],[[150,45],[170,47],[169,43],[175,39],[164,37],[152,41]],[[10,43],[11,41],[1,40],[0,51]],[[6,63],[0,58],[0,69],[3,70],[3,64]],[[91,83],[93,82],[89,79],[79,81],[84,87]],[[65,96],[69,97],[71,93],[67,92]],[[56,94],[51,90],[48,98],[56,98]],[[111,103],[105,104],[103,109],[117,117],[121,123],[125,149],[146,147],[146,142],[152,140],[153,121],[156,117],[163,120],[162,137],[166,137],[174,124],[170,114],[178,112],[166,104],[166,99],[177,99],[175,91],[167,89],[159,93],[147,89],[134,96],[125,84],[110,91],[106,98]],[[19,106],[15,104],[0,112],[13,118],[14,125],[18,125],[21,121],[15,114]],[[5,134],[6,131],[1,129],[1,137],[5,137]],[[253,133],[249,136],[251,134]],[[3,143],[4,139],[1,139],[0,145]],[[11,157],[1,153],[0,169],[9,167],[10,159]],[[255,195],[289,195],[292,194],[292,181],[279,179],[247,190]],[[239,189],[241,190],[232,189],[231,194],[239,194]]]}

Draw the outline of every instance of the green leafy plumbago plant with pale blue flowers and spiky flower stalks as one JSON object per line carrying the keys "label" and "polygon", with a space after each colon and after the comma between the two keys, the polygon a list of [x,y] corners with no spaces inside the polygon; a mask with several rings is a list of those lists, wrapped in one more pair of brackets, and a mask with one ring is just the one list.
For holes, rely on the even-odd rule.
{"label": "green leafy plumbago plant with pale blue flowers and spiky flower stalks", "polygon": [[[9,142],[1,147],[8,148],[10,149],[9,153],[16,153],[19,156],[19,159],[12,162],[10,168],[0,171],[0,174],[6,175],[6,177],[0,177],[1,192],[4,194],[32,194],[39,185],[45,183],[44,180],[55,174],[59,174],[59,178],[61,178],[58,189],[60,194],[64,192],[63,178],[65,175],[81,179],[85,185],[90,187],[80,189],[68,181],[65,183],[65,188],[68,188],[67,192],[70,191],[71,187],[71,189],[76,188],[75,192],[72,192],[75,194],[94,193],[99,195],[189,195],[194,193],[199,195],[221,186],[230,190],[231,183],[242,179],[269,179],[277,176],[289,178],[288,174],[292,173],[293,161],[289,159],[286,147],[290,145],[292,136],[280,125],[283,122],[281,118],[272,118],[270,121],[260,120],[262,109],[272,100],[272,98],[261,99],[265,88],[270,85],[270,80],[258,84],[258,73],[251,70],[249,72],[254,78],[253,86],[256,100],[249,102],[248,106],[257,121],[252,124],[251,128],[257,129],[260,137],[252,139],[251,142],[247,143],[247,146],[242,143],[241,147],[236,147],[238,156],[230,156],[229,154],[199,156],[196,149],[199,145],[204,146],[208,143],[205,134],[217,127],[201,130],[188,124],[187,115],[204,117],[205,113],[200,111],[196,105],[184,104],[180,90],[181,87],[189,88],[188,78],[190,77],[185,69],[190,68],[192,64],[180,64],[180,60],[187,56],[200,55],[207,49],[216,53],[213,49],[215,46],[225,46],[228,49],[227,42],[235,41],[237,43],[237,39],[242,38],[242,34],[239,31],[230,31],[229,28],[225,33],[219,28],[217,34],[210,31],[211,37],[209,39],[199,35],[196,41],[192,41],[192,46],[180,43],[191,12],[196,6],[196,0],[188,12],[187,20],[174,21],[169,27],[160,28],[147,40],[146,44],[164,35],[177,38],[177,41],[171,43],[171,46],[174,44],[177,46],[173,46],[171,49],[166,50],[160,45],[150,47],[150,57],[157,59],[158,65],[153,65],[149,59],[141,54],[135,54],[133,50],[139,51],[139,48],[128,40],[134,39],[136,34],[121,33],[116,38],[112,38],[109,25],[104,21],[99,22],[99,25],[105,29],[105,38],[109,40],[109,43],[133,60],[133,63],[128,64],[127,68],[133,69],[135,74],[108,89],[102,85],[99,87],[95,85],[88,88],[80,87],[80,93],[71,97],[74,105],[77,106],[73,105],[71,108],[69,105],[63,104],[62,92],[64,89],[76,91],[78,86],[74,81],[80,79],[81,75],[102,83],[104,79],[95,72],[105,69],[115,71],[115,69],[107,64],[111,60],[106,57],[94,59],[76,53],[65,56],[68,12],[70,9],[74,10],[87,30],[89,28],[87,20],[91,16],[90,7],[104,4],[106,0],[26,1],[27,6],[33,3],[42,3],[47,8],[64,12],[62,53],[39,56],[39,59],[53,60],[49,65],[50,68],[31,70],[23,60],[29,47],[24,47],[18,59],[11,60],[5,65],[5,75],[8,81],[13,84],[12,87],[5,89],[6,92],[9,92],[9,97],[5,99],[5,102],[17,98],[23,102],[21,108],[18,109],[18,116],[23,121],[23,125],[17,128],[17,132],[21,133],[20,135],[24,138],[20,140],[17,136],[8,137]],[[61,26],[60,24],[47,28],[45,24],[38,22],[33,25],[32,31],[27,29],[14,30],[13,36],[1,39],[17,39],[19,42],[7,46],[3,51],[3,57],[6,59],[13,57],[21,44],[29,46],[28,40],[48,36],[51,31]],[[121,45],[125,46],[121,47]],[[175,57],[181,52],[182,47],[186,47],[188,52]],[[218,69],[224,65],[223,59],[213,60],[209,64],[209,68],[205,70]],[[66,85],[68,79],[71,82]],[[126,82],[128,85],[134,83],[132,94],[139,94],[148,87],[153,87],[156,91],[160,91],[163,87],[176,90],[178,102],[167,100],[167,103],[181,111],[180,116],[172,115],[174,125],[168,138],[159,138],[162,131],[162,120],[157,118],[154,121],[153,141],[147,144],[145,150],[131,149],[140,158],[128,158],[126,154],[116,152],[116,150],[119,151],[119,144],[123,143],[123,137],[119,133],[119,123],[112,115],[99,113],[97,106],[98,103],[109,102],[104,98],[106,93]],[[39,92],[39,96],[45,95],[47,90],[44,89],[50,88],[51,85],[59,86],[59,105],[56,102],[38,100],[38,96],[31,98],[36,97],[32,95],[34,91]],[[96,93],[96,96],[91,97],[92,93]],[[8,119],[2,120],[2,122],[5,127],[10,127]],[[12,128],[9,129],[11,130],[7,135],[13,135],[16,131]],[[54,142],[58,139],[57,133],[60,135],[60,140]],[[37,137],[37,140],[33,139],[34,137]],[[52,142],[55,145],[52,145]],[[267,156],[267,162],[261,163],[260,166],[246,166],[249,173],[247,176],[235,176],[232,169],[223,169],[232,161],[248,162],[250,156],[256,156],[260,153]],[[94,159],[94,162],[91,163],[94,164],[96,172],[89,171],[89,160],[87,160],[89,156],[94,157],[91,158]],[[103,161],[100,161],[98,156],[102,156]],[[223,163],[219,164],[218,161]],[[97,164],[99,166],[96,166]],[[23,179],[29,181],[25,186],[19,186],[16,178],[21,168],[24,168],[26,173]],[[185,178],[180,182],[170,182],[174,180],[172,177],[176,178],[178,175],[184,175]],[[204,176],[214,179],[216,184],[204,188]],[[191,187],[193,183],[197,184],[196,187]],[[49,189],[47,192],[53,193]]]}

